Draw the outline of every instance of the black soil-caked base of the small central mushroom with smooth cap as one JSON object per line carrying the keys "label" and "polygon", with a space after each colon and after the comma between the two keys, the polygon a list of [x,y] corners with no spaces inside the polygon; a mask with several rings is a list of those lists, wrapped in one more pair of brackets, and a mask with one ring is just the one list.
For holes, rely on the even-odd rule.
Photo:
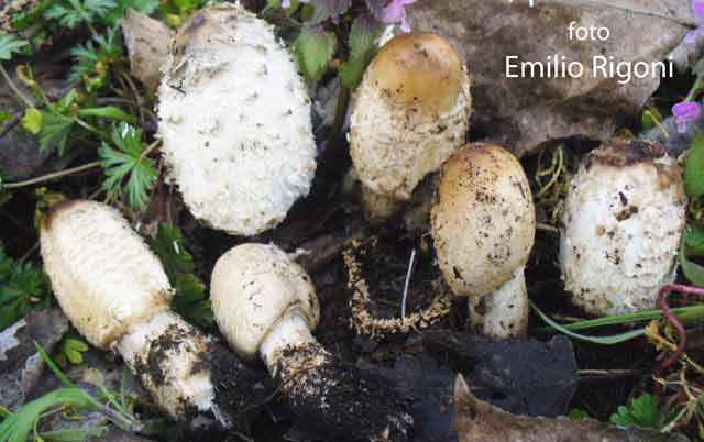
{"label": "black soil-caked base of the small central mushroom with smooth cap", "polygon": [[276,378],[299,423],[327,440],[407,441],[413,419],[388,383],[318,343],[280,353]]}

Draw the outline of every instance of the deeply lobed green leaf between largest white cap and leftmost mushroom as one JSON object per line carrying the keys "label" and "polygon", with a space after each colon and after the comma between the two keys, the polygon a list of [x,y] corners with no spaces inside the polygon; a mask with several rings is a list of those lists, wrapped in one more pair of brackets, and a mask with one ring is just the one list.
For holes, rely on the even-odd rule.
{"label": "deeply lobed green leaf between largest white cap and leftmost mushroom", "polygon": [[[142,157],[146,146],[142,142],[142,131],[127,123],[113,126],[112,142],[117,150],[102,142],[98,150],[106,179],[102,188],[110,196],[128,195],[130,206],[146,209],[150,201],[148,191],[156,183],[158,172],[155,161]],[[127,179],[127,186],[123,180]]]}

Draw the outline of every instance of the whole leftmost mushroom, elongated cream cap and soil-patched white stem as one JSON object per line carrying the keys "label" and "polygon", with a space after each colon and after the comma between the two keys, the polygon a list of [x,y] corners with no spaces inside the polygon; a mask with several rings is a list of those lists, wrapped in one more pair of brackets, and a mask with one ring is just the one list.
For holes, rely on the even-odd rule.
{"label": "whole leftmost mushroom, elongated cream cap and soil-patched white stem", "polygon": [[216,405],[210,338],[169,311],[173,290],[162,264],[117,210],[59,203],[42,224],[41,250],[74,327],[98,349],[117,351],[165,412],[230,423]]}

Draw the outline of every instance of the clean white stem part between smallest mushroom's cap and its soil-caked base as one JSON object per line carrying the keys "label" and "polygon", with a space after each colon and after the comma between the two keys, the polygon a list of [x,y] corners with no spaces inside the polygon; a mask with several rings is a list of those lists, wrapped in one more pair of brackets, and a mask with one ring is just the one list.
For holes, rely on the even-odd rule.
{"label": "clean white stem part between smallest mushroom's cap and its soil-caked base", "polygon": [[316,343],[310,333],[310,325],[299,314],[284,317],[262,341],[260,355],[273,375],[286,349]]}

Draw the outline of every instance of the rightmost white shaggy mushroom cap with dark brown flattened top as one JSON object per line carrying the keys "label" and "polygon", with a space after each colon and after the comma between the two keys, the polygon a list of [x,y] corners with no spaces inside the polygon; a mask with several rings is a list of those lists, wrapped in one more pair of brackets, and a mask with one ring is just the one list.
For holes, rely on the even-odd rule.
{"label": "rightmost white shaggy mushroom cap with dark brown flattened top", "polygon": [[674,280],[685,207],[662,145],[610,140],[587,155],[562,214],[560,266],[574,303],[596,316],[653,308]]}

